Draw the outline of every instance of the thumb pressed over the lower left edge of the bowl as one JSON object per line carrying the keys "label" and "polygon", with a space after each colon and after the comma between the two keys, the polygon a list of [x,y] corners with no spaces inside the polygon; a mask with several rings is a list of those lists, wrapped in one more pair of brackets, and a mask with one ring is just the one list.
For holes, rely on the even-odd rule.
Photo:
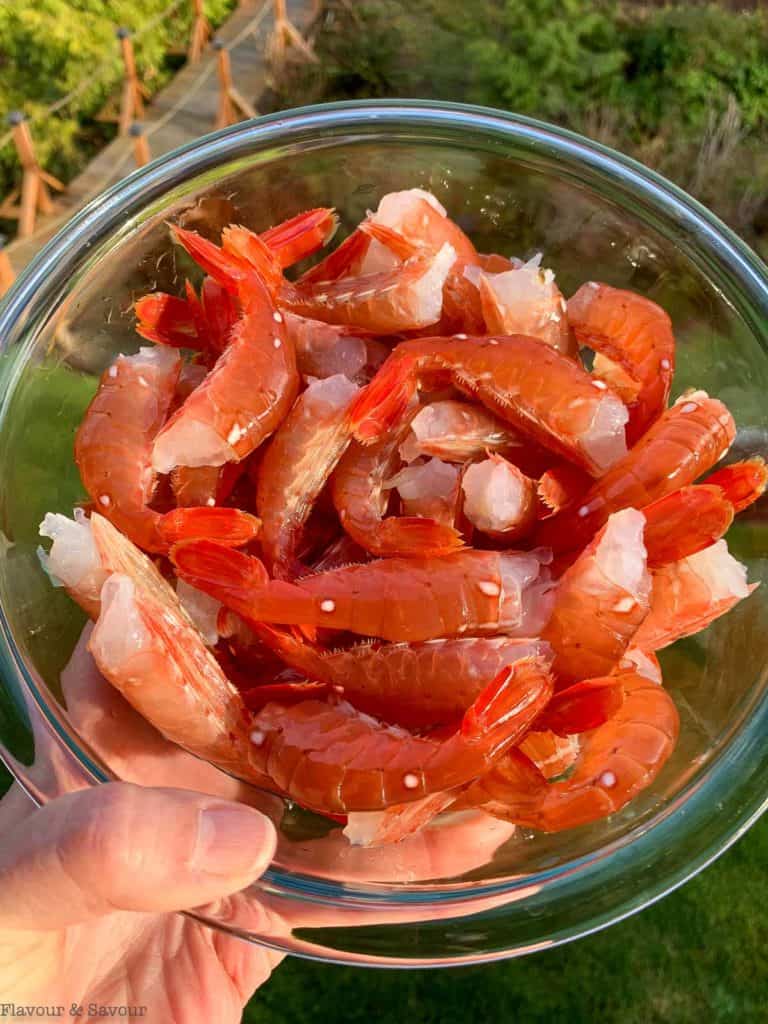
{"label": "thumb pressed over the lower left edge of the bowl", "polygon": [[274,844],[259,811],[183,790],[112,782],[59,797],[0,844],[0,928],[199,906],[253,882]]}

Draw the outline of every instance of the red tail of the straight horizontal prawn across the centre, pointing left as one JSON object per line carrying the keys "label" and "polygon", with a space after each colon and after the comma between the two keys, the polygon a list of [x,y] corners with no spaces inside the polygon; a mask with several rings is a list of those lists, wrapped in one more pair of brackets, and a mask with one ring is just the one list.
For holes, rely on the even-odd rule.
{"label": "red tail of the straight horizontal prawn across the centre, pointing left", "polygon": [[252,555],[214,541],[184,541],[171,548],[171,561],[182,580],[223,603],[226,595],[243,594],[269,582],[263,563]]}

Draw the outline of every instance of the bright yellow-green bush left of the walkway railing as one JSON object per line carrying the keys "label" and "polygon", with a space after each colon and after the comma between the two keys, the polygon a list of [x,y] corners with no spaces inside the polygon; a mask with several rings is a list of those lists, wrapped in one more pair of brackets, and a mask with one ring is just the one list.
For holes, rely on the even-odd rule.
{"label": "bright yellow-green bush left of the walkway railing", "polygon": [[[206,0],[206,12],[219,23],[234,0]],[[189,38],[191,4],[181,3],[148,31],[169,0],[16,0],[0,4],[0,116],[23,110],[32,118],[71,89],[84,89],[60,114],[33,126],[41,164],[70,178],[115,127],[95,120],[112,96],[119,95],[123,66],[115,32],[125,26],[138,32],[134,43],[141,81],[151,91],[171,74],[171,51]],[[177,51],[180,57],[181,50]],[[169,56],[171,54],[171,56]],[[6,125],[0,124],[0,135]],[[18,183],[12,145],[0,150],[0,198]]]}

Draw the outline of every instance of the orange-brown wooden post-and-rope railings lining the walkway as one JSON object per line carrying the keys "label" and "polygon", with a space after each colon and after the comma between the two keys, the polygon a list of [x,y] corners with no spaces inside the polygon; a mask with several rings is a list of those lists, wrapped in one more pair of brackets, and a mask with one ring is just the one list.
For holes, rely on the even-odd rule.
{"label": "orange-brown wooden post-and-rope railings lining the walkway", "polygon": [[[182,4],[191,5],[191,35],[187,61],[194,63],[202,56],[203,50],[212,43],[212,49],[216,53],[216,59],[211,60],[201,70],[196,81],[187,88],[185,93],[158,120],[144,125],[143,99],[148,98],[148,93],[140,82],[136,71],[133,54],[133,43],[147,33],[152,32],[166,18],[174,14]],[[272,36],[267,42],[267,54],[272,58],[283,59],[288,46],[293,46],[306,59],[316,61],[317,57],[311,45],[304,39],[301,33],[291,23],[286,13],[285,0],[273,0],[272,13],[274,26]],[[322,0],[312,0],[312,10],[314,18],[322,10]],[[240,46],[250,35],[254,34],[267,15],[268,2],[259,8],[258,12],[251,18],[238,35],[224,43],[219,39],[211,39],[211,27],[208,23],[204,0],[172,0],[162,11],[159,11],[143,25],[131,31],[119,29],[116,33],[120,42],[122,62],[123,62],[123,91],[121,97],[120,116],[116,120],[119,123],[119,133],[130,135],[132,147],[128,150],[110,168],[108,175],[104,175],[93,188],[89,189],[90,195],[95,195],[106,187],[117,177],[122,176],[124,169],[133,162],[136,166],[142,166],[150,159],[150,139],[158,131],[164,128],[173,118],[175,118],[185,104],[203,88],[214,73],[219,78],[219,102],[214,125],[224,127],[233,124],[244,117],[254,117],[257,115],[254,106],[237,90],[232,78],[229,54]],[[10,130],[0,135],[0,150],[12,143],[16,150],[16,157],[23,170],[22,184],[18,188],[5,198],[0,203],[0,216],[16,219],[18,222],[17,238],[29,238],[35,231],[36,213],[51,213],[52,205],[48,196],[48,186],[57,190],[63,190],[66,186],[52,175],[49,175],[38,163],[35,155],[34,142],[30,133],[30,126],[39,124],[46,118],[55,115],[59,111],[69,106],[74,100],[82,95],[88,88],[92,87],[106,73],[108,70],[115,69],[115,58],[104,59],[78,82],[66,95],[60,96],[42,111],[37,111],[31,116],[26,116],[20,112],[12,112],[8,115]],[[117,85],[118,79],[116,79]],[[19,147],[19,139],[23,145]],[[2,247],[0,246],[0,253]],[[7,254],[4,262],[7,261]],[[0,295],[7,287],[7,272],[2,275],[0,282]]]}

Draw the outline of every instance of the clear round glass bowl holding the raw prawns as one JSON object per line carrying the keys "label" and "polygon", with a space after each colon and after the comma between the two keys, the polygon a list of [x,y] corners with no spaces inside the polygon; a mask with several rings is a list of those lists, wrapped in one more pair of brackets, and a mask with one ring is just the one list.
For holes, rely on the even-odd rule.
{"label": "clear round glass bowl holding the raw prawns", "polygon": [[[333,205],[346,231],[384,193],[415,185],[481,251],[544,251],[566,295],[596,279],[659,302],[678,338],[675,394],[695,386],[722,397],[739,424],[734,451],[765,450],[766,268],[693,200],[618,154],[525,118],[418,101],[306,108],[169,154],[78,214],[0,311],[0,739],[35,800],[116,777],[238,784],[65,668],[84,618],[36,557],[43,514],[71,512],[82,497],[74,429],[95,375],[137,347],[132,300],[178,290],[189,271],[166,221],[263,229]],[[755,581],[768,573],[767,531],[757,508],[729,536]],[[618,921],[698,871],[764,809],[767,635],[763,587],[663,652],[682,718],[677,752],[605,821],[545,836],[454,816],[367,851],[324,819],[295,809],[281,818],[275,798],[241,787],[280,821],[274,862],[247,892],[195,913],[293,953],[390,966],[519,955]]]}

